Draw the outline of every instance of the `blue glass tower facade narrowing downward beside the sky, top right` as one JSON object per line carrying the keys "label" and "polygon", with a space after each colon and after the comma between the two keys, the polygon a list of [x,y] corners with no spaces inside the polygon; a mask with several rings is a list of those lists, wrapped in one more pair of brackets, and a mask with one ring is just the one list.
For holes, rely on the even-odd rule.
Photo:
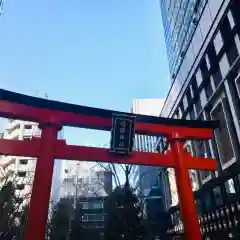
{"label": "blue glass tower facade narrowing downward beside the sky, top right", "polygon": [[170,72],[174,79],[207,0],[161,0]]}

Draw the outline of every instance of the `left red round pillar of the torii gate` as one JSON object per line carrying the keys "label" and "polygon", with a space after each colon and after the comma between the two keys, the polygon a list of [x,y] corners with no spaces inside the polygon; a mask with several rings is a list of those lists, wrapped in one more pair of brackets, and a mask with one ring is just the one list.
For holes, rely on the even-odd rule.
{"label": "left red round pillar of the torii gate", "polygon": [[45,239],[57,132],[54,126],[46,126],[42,129],[24,240]]}

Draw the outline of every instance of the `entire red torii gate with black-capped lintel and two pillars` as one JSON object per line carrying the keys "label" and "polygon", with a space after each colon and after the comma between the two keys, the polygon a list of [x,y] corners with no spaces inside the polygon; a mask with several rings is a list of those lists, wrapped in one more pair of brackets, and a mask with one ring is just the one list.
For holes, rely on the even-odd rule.
{"label": "entire red torii gate with black-capped lintel and two pillars", "polygon": [[57,133],[63,126],[110,131],[114,113],[129,115],[0,90],[1,117],[38,122],[42,129],[39,139],[0,140],[0,154],[37,158],[25,240],[45,239],[54,159],[173,167],[185,236],[189,240],[202,239],[188,170],[216,170],[216,161],[192,157],[185,152],[184,141],[211,139],[217,122],[135,115],[137,134],[167,137],[171,150],[162,154],[133,152],[130,156],[118,156],[109,153],[108,149],[67,145],[64,140],[57,139]]}

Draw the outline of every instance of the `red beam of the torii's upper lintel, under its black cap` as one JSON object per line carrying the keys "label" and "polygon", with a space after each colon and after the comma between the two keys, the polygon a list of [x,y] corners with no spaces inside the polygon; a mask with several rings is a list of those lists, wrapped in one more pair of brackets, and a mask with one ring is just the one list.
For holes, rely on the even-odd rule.
{"label": "red beam of the torii's upper lintel, under its black cap", "polygon": [[[112,128],[111,118],[101,116],[87,116],[70,112],[55,111],[43,108],[35,108],[22,104],[0,101],[0,115],[7,118],[17,118],[21,120],[48,122],[54,119],[62,126],[84,126],[90,129],[107,130]],[[164,135],[170,138],[184,139],[211,139],[212,129],[186,128],[178,126],[166,126],[152,123],[136,123],[136,133],[146,135]],[[176,135],[176,133],[178,133]]]}

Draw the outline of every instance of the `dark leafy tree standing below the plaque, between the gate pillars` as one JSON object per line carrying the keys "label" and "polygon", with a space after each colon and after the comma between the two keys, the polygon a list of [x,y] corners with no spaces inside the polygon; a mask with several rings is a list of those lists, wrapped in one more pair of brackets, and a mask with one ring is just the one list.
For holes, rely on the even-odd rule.
{"label": "dark leafy tree standing below the plaque, between the gate pillars", "polygon": [[106,200],[106,240],[140,240],[144,232],[138,198],[128,184],[117,187]]}

